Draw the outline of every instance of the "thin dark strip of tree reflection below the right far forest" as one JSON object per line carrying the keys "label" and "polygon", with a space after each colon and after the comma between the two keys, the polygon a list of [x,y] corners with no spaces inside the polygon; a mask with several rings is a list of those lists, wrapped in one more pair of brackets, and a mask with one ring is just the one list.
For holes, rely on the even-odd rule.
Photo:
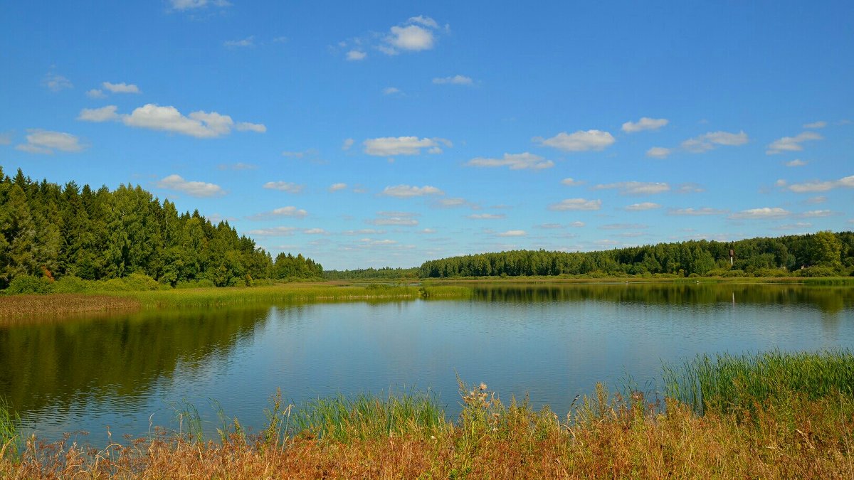
{"label": "thin dark strip of tree reflection below the right far forest", "polygon": [[806,305],[822,313],[839,313],[854,305],[851,287],[799,284],[573,284],[475,287],[481,301],[613,301],[659,305],[731,302]]}

